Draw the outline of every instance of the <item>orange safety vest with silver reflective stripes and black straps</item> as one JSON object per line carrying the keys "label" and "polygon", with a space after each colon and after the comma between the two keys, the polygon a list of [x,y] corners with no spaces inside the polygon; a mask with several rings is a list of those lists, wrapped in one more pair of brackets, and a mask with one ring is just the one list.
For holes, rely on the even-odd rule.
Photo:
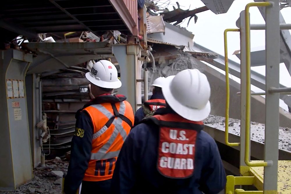
{"label": "orange safety vest with silver reflective stripes and black straps", "polygon": [[111,179],[117,156],[134,122],[132,107],[123,101],[93,104],[84,110],[91,117],[94,134],[91,159],[83,180]]}

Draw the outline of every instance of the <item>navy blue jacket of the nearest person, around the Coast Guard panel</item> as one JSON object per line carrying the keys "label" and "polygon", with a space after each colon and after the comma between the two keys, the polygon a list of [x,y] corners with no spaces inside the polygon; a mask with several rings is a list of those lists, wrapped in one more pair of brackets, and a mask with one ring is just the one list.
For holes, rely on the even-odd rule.
{"label": "navy blue jacket of the nearest person, around the Coast Guard panel", "polygon": [[[155,114],[173,113],[159,108]],[[226,173],[214,139],[200,131],[196,139],[194,174],[187,179],[170,179],[157,170],[159,128],[141,123],[127,136],[113,173],[114,194],[217,194],[225,188]]]}

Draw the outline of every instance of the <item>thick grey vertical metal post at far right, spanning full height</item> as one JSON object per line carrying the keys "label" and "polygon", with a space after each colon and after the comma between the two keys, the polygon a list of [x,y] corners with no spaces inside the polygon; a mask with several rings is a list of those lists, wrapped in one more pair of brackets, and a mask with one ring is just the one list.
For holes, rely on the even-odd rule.
{"label": "thick grey vertical metal post at far right, spanning full height", "polygon": [[278,139],[279,139],[279,93],[269,88],[279,88],[280,21],[279,3],[267,0],[273,6],[266,7],[266,124],[265,161],[273,164],[264,169],[264,193],[275,194],[278,188]]}

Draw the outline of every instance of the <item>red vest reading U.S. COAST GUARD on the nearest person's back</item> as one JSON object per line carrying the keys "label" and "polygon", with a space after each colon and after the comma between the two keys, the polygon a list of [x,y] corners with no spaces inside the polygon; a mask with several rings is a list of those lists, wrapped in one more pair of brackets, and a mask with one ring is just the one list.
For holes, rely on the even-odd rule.
{"label": "red vest reading U.S. COAST GUARD on the nearest person's back", "polygon": [[187,120],[168,113],[154,115],[143,122],[159,126],[157,170],[168,178],[188,178],[194,173],[196,137],[203,129],[203,122]]}

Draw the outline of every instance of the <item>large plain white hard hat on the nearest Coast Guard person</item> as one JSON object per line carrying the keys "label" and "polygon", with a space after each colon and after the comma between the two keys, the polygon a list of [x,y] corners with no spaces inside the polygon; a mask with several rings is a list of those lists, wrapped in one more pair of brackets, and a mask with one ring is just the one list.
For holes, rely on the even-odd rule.
{"label": "large plain white hard hat on the nearest Coast Guard person", "polygon": [[183,70],[166,79],[162,92],[171,108],[185,119],[202,121],[210,114],[210,85],[197,69]]}

